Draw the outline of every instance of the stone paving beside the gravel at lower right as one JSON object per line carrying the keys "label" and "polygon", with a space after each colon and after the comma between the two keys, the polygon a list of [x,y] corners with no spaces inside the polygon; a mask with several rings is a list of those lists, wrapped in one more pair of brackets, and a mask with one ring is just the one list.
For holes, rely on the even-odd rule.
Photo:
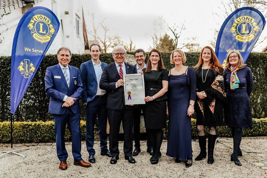
{"label": "stone paving beside the gravel at lower right", "polygon": [[[256,139],[259,137],[249,137],[249,138]],[[267,137],[264,137],[264,138],[267,138]],[[233,139],[230,139],[230,138],[226,138],[226,139],[233,141]],[[223,144],[233,149],[233,142],[218,141],[218,143]],[[255,150],[249,147],[248,145],[242,143],[242,140],[240,144],[240,149],[242,150],[243,158],[246,158],[248,161],[252,162],[256,166],[260,166],[260,168],[263,169],[267,173],[267,155],[263,154],[259,150]]]}

